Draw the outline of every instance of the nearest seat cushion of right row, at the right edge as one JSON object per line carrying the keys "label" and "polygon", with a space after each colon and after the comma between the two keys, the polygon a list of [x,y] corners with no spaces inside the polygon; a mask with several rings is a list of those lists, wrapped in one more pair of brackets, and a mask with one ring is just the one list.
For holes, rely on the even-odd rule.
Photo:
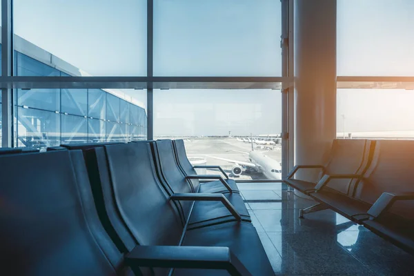
{"label": "nearest seat cushion of right row, at the right edge", "polygon": [[414,223],[402,219],[368,219],[363,225],[373,233],[414,255]]}

